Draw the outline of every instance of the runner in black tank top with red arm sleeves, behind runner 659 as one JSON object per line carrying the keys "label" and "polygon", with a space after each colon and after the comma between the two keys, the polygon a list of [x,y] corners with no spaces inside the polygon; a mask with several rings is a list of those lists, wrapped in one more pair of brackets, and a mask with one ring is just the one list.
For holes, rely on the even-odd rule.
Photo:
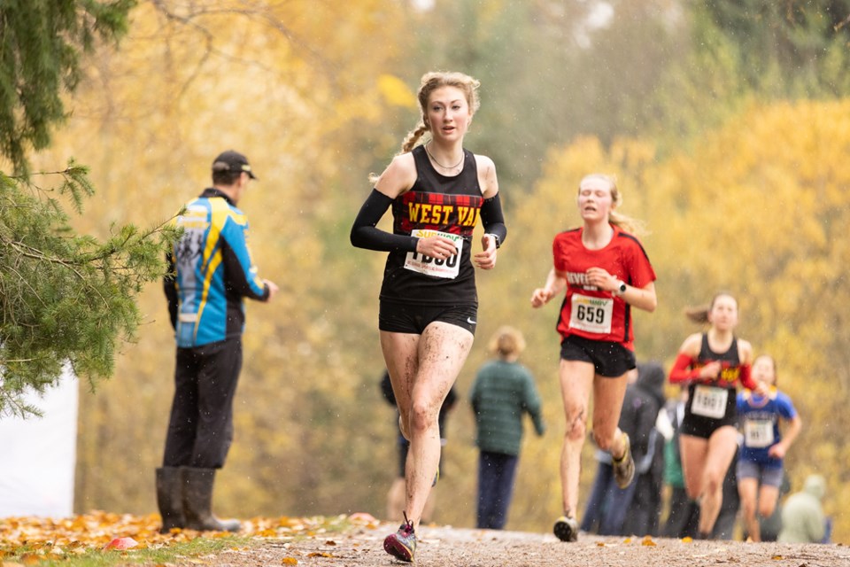
{"label": "runner in black tank top with red arm sleeves, behind runner 659", "polygon": [[708,539],[723,504],[723,478],[738,447],[735,395],[738,382],[753,387],[753,347],[736,338],[738,301],[719,293],[706,309],[690,312],[708,322],[706,333],[694,333],[679,348],[670,382],[688,384],[680,448],[688,496],[699,501],[699,537]]}

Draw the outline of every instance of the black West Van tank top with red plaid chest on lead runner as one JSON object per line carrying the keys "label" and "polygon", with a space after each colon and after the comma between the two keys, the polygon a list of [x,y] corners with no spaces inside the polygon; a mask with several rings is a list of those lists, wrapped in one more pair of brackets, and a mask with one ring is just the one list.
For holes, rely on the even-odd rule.
{"label": "black West Van tank top with red plaid chest on lead runner", "polygon": [[455,240],[460,254],[435,260],[417,252],[390,252],[383,271],[381,299],[415,305],[477,305],[472,233],[483,203],[475,155],[463,151],[459,175],[441,175],[424,146],[413,148],[416,182],[392,203],[394,234],[428,237],[435,232]]}

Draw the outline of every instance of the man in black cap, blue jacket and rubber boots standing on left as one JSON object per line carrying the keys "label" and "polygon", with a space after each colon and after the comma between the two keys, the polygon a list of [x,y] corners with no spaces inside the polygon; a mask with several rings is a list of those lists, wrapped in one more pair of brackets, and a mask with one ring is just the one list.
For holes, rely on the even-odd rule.
{"label": "man in black cap, blue jacket and rubber boots standing on left", "polygon": [[257,276],[248,221],[236,204],[257,177],[241,153],[213,161],[213,187],[177,219],[181,239],[168,255],[168,310],[177,341],[174,401],[163,465],[157,469],[160,532],[172,528],[236,532],[213,516],[215,470],[233,439],[233,398],[242,368],[244,298],[268,301],[277,286]]}

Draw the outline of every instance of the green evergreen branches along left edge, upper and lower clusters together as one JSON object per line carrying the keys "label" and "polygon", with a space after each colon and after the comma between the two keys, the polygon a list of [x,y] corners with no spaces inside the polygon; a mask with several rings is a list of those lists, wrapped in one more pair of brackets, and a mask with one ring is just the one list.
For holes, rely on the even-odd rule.
{"label": "green evergreen branches along left edge, upper and lower clusters together", "polygon": [[31,175],[27,157],[50,146],[84,58],[126,33],[133,5],[0,5],[0,416],[38,413],[24,394],[56,384],[66,364],[92,388],[112,376],[116,347],[141,321],[135,298],[165,271],[173,231],[75,232],[66,208],[80,214],[94,193],[88,168],[68,156],[66,167]]}

